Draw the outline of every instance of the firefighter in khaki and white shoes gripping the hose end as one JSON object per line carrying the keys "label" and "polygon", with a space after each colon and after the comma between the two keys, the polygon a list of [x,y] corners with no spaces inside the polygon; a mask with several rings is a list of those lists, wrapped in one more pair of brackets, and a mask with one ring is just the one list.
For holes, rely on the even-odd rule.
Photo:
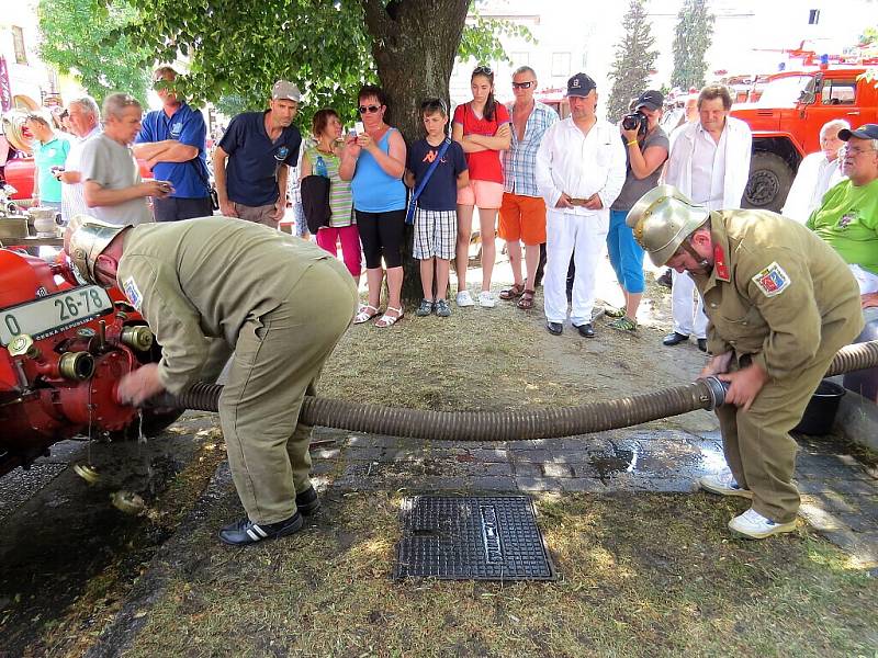
{"label": "firefighter in khaki and white shoes gripping the hose end", "polygon": [[800,498],[789,431],[840,348],[863,329],[856,281],[835,251],[775,213],[709,211],[671,185],[633,206],[628,225],[658,266],[688,272],[705,298],[710,361],[728,383],[717,409],[729,469],[701,488],[752,500],[735,534],[790,532]]}

